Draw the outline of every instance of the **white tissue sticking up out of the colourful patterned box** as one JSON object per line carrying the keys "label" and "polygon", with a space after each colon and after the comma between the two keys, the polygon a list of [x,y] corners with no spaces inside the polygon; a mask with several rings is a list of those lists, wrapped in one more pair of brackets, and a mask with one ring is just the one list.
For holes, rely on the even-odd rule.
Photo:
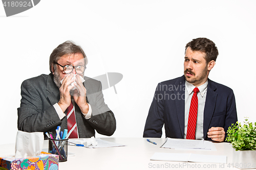
{"label": "white tissue sticking up out of the colourful patterned box", "polygon": [[15,145],[15,158],[38,156],[44,144],[43,132],[18,131]]}

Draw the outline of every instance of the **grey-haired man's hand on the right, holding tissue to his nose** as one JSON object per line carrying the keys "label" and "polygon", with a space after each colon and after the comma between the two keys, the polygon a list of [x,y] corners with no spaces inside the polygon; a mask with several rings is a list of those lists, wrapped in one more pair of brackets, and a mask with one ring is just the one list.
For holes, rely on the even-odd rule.
{"label": "grey-haired man's hand on the right, holding tissue to his nose", "polygon": [[74,90],[74,101],[78,105],[82,113],[88,113],[89,105],[86,101],[86,88],[83,86],[79,75],[76,75],[76,83],[74,83],[74,85],[78,89]]}

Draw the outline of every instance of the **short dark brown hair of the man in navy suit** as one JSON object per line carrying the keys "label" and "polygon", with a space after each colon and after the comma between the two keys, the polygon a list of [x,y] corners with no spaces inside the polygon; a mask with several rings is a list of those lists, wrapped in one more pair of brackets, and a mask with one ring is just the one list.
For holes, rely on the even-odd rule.
{"label": "short dark brown hair of the man in navy suit", "polygon": [[209,63],[211,60],[216,61],[217,56],[219,55],[218,48],[215,43],[207,38],[196,38],[188,42],[185,47],[185,53],[187,47],[190,47],[192,51],[205,53],[206,63]]}

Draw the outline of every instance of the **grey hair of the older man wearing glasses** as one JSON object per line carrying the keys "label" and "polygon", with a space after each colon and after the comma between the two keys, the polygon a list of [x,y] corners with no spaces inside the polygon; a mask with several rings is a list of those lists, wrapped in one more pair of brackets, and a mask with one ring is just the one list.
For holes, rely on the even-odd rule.
{"label": "grey hair of the older man wearing glasses", "polygon": [[52,65],[55,64],[60,57],[64,55],[71,55],[71,54],[77,54],[81,53],[84,57],[84,62],[87,65],[88,59],[86,57],[86,54],[82,50],[81,46],[76,45],[73,41],[66,41],[63,42],[62,44],[59,44],[53,51],[52,54],[50,55],[50,60],[49,60],[49,66],[50,66],[50,71],[52,73]]}

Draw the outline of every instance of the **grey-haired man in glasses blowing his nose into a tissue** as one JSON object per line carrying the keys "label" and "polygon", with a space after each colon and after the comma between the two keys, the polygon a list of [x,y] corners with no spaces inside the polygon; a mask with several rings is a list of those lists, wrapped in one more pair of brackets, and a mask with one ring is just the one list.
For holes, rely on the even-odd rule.
{"label": "grey-haired man in glasses blowing his nose into a tissue", "polygon": [[18,129],[55,134],[60,126],[68,129],[70,138],[92,137],[95,130],[111,136],[116,120],[104,103],[101,83],[83,77],[87,61],[72,41],[58,45],[50,56],[51,73],[22,83]]}

